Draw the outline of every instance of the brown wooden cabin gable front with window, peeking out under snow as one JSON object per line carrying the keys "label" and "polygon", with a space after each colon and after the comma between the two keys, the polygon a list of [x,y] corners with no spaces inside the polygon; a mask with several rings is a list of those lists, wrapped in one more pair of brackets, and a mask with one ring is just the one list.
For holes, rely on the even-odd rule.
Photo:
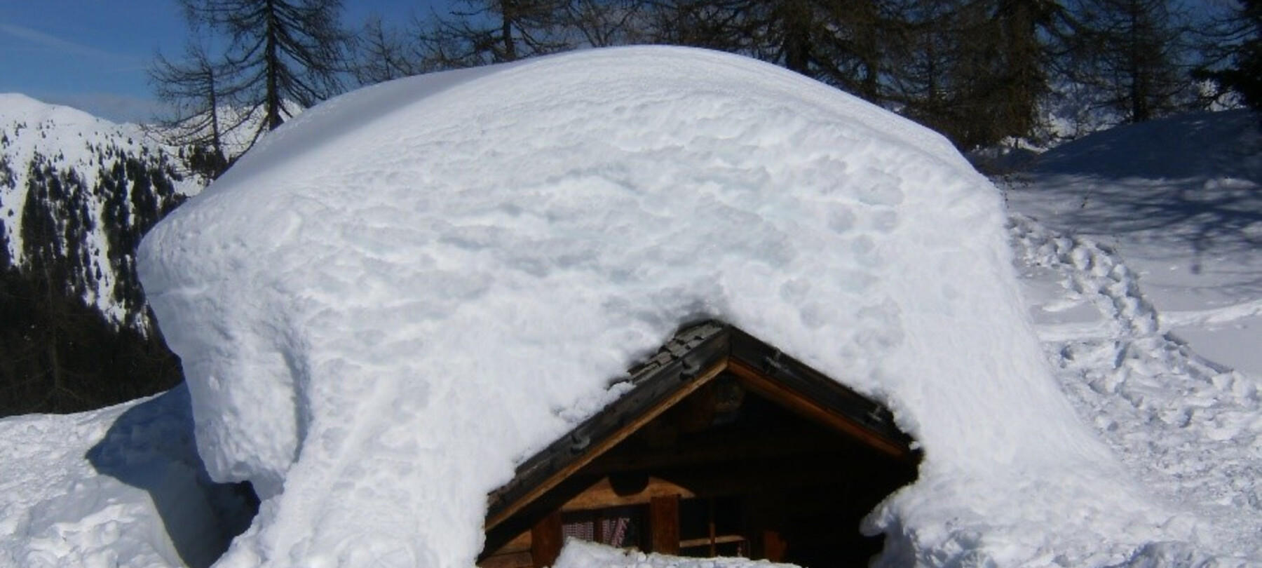
{"label": "brown wooden cabin gable front with window, peeking out under snow", "polygon": [[861,518],[915,477],[919,456],[883,406],[723,323],[681,331],[625,381],[626,394],[488,495],[485,568],[549,565],[567,530],[800,562],[794,553],[819,548],[798,528],[804,515]]}

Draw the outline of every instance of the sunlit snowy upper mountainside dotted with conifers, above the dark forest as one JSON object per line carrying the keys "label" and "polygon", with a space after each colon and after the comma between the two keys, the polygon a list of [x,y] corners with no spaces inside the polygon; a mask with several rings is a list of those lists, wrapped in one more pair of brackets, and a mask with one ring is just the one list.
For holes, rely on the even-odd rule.
{"label": "sunlit snowy upper mountainside dotted with conifers, above the dark forest", "polygon": [[138,125],[0,93],[0,269],[63,275],[67,294],[144,329],[133,252],[197,191],[179,178]]}

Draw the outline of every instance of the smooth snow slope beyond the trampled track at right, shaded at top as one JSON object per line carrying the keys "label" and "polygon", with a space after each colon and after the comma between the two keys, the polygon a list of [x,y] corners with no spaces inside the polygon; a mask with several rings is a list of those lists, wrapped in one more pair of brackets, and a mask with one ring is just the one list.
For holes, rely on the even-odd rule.
{"label": "smooth snow slope beyond the trampled track at right, shaded at top", "polygon": [[1248,111],[1118,127],[1047,151],[1007,194],[1126,259],[1157,324],[1262,375],[1262,130]]}

